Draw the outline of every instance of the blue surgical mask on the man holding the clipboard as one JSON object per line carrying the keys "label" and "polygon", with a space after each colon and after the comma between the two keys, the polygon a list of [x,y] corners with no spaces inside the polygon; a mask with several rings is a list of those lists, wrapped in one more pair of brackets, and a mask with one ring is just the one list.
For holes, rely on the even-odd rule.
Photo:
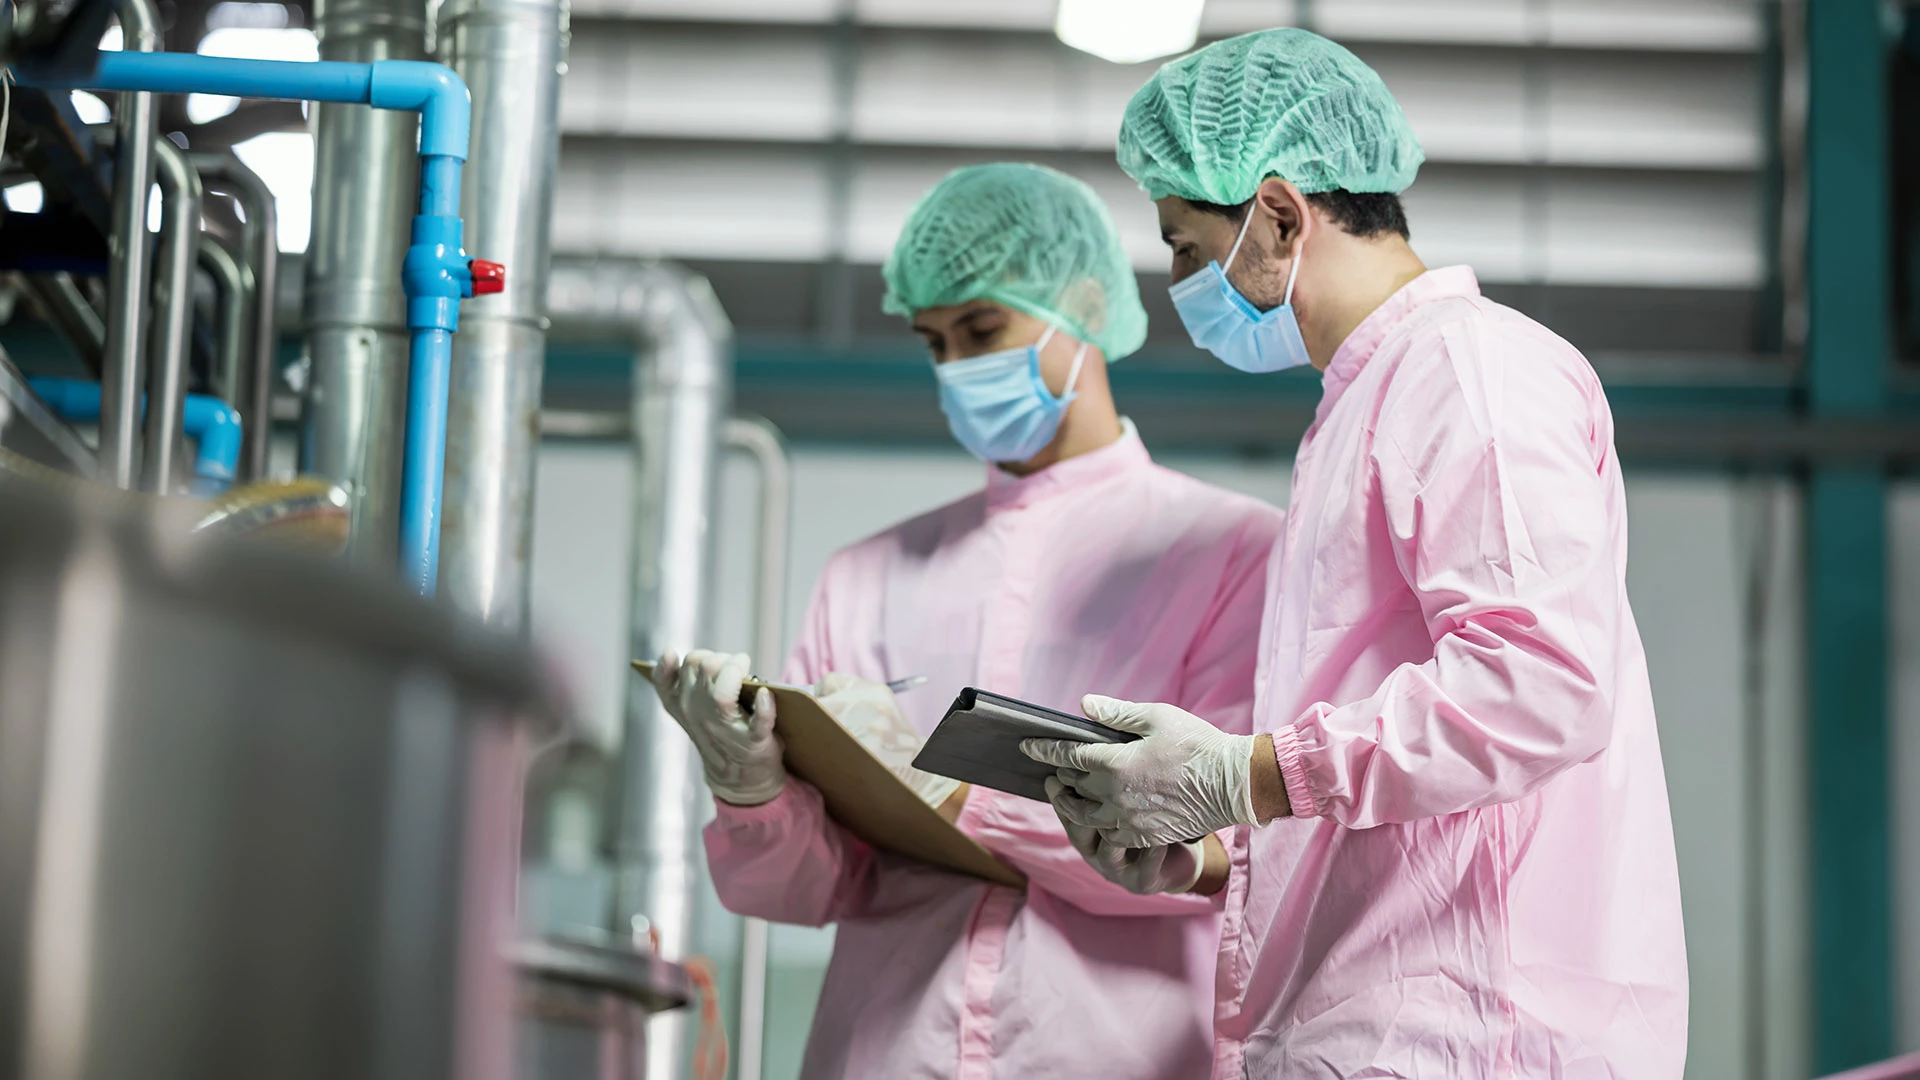
{"label": "blue surgical mask on the man holding the clipboard", "polygon": [[1073,404],[1087,346],[1073,354],[1066,394],[1054,398],[1041,379],[1041,350],[1052,336],[1054,329],[1046,327],[1037,344],[933,365],[947,427],[975,457],[1025,461],[1054,440],[1060,417]]}

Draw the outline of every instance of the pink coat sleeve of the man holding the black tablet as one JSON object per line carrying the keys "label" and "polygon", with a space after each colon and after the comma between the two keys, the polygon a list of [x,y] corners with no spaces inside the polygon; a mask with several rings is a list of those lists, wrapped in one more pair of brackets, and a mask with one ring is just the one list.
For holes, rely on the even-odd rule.
{"label": "pink coat sleeve of the man holding the black tablet", "polygon": [[1607,748],[1626,619],[1609,454],[1597,380],[1544,332],[1461,321],[1402,363],[1369,465],[1382,573],[1411,586],[1432,659],[1275,732],[1294,815],[1505,803]]}

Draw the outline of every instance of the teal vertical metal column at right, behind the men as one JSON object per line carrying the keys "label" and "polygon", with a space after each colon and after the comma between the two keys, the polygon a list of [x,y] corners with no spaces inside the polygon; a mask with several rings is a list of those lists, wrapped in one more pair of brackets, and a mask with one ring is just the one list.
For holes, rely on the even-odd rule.
{"label": "teal vertical metal column at right, behind the men", "polygon": [[[1887,48],[1880,0],[1807,4],[1807,405],[1876,417],[1891,357]],[[1812,1065],[1893,1051],[1887,479],[1807,477],[1807,794]]]}

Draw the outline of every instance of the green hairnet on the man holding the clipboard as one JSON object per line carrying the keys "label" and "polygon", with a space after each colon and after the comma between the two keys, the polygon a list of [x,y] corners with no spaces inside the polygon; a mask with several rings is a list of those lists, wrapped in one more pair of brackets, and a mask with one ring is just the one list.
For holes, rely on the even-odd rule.
{"label": "green hairnet on the man holding the clipboard", "polygon": [[881,309],[993,300],[1119,359],[1146,309],[1119,231],[1092,188],[1043,165],[968,165],[933,184],[893,242]]}

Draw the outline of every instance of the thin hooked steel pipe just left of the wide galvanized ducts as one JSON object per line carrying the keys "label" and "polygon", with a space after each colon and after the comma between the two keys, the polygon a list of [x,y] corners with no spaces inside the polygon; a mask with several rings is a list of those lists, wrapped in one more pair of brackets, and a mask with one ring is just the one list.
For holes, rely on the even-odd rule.
{"label": "thin hooked steel pipe just left of the wide galvanized ducts", "polygon": [[253,279],[248,298],[248,319],[253,327],[253,342],[248,348],[252,363],[244,377],[228,390],[228,402],[240,409],[246,425],[246,448],[240,454],[240,480],[259,480],[267,475],[267,446],[273,436],[273,421],[267,415],[273,394],[275,357],[280,354],[280,336],[275,327],[275,298],[280,286],[280,225],[278,204],[267,183],[248,169],[232,154],[196,154],[194,165],[200,181],[209,190],[221,190],[240,202],[246,211],[242,233],[244,265]]}

